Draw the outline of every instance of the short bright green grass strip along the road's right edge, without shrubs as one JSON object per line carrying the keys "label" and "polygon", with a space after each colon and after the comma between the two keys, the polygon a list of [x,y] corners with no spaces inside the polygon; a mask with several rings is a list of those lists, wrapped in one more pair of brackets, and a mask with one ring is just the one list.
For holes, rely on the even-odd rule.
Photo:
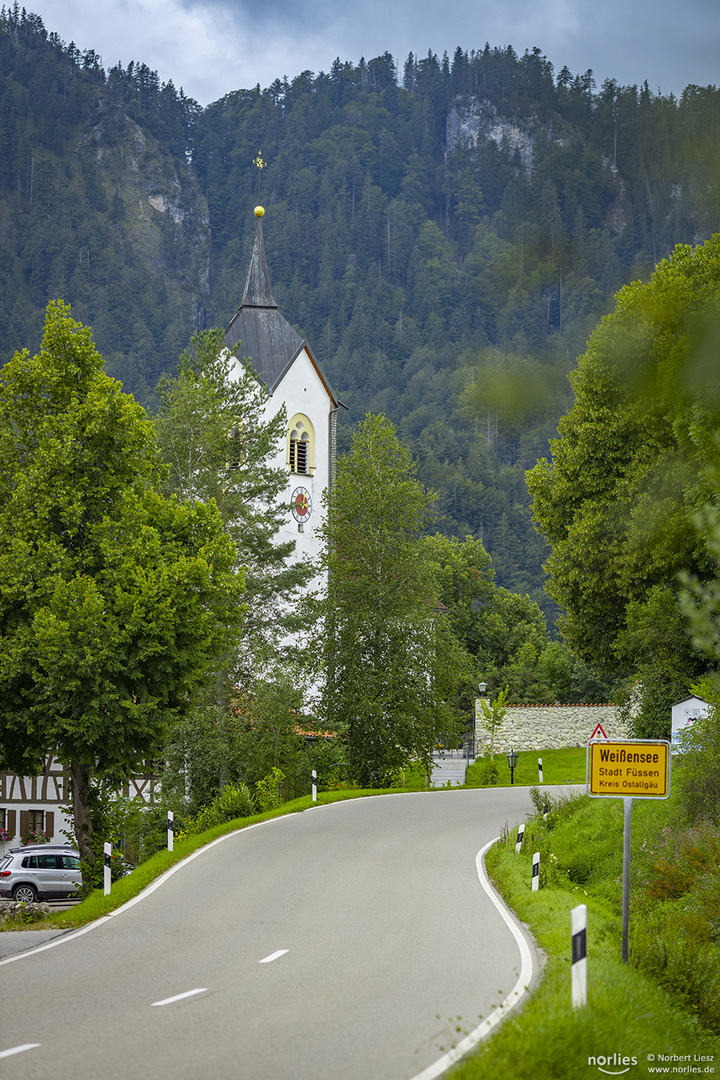
{"label": "short bright green grass strip along the road's right edge, without shrubs", "polygon": [[[547,963],[541,985],[525,1008],[460,1063],[452,1080],[720,1075],[720,1039],[702,1027],[677,997],[621,961],[617,896],[622,887],[612,868],[622,864],[622,840],[620,853],[608,850],[611,843],[617,847],[615,800],[584,798],[575,802],[580,802],[580,812],[568,813],[567,832],[574,832],[574,848],[583,854],[576,859],[572,877],[565,868],[553,868],[553,837],[548,840],[547,834],[542,835],[540,822],[531,822],[526,829],[526,836],[533,835],[538,847],[544,847],[544,860],[549,864],[538,892],[533,893],[530,885],[532,849],[538,847],[525,845],[516,855],[515,831],[488,853],[492,879],[529,926]],[[563,845],[569,847],[561,834],[558,828],[560,863]],[[609,836],[614,839],[609,841]],[[595,877],[593,852],[603,867]],[[609,868],[610,880],[604,876]],[[588,1003],[573,1010],[570,912],[579,903],[587,904],[588,909]],[[630,920],[630,944],[633,932]]]}

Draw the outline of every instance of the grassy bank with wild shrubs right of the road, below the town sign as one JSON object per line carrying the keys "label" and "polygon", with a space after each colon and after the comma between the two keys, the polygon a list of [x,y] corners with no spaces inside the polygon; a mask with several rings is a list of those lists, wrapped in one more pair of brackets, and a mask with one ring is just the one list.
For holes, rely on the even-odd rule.
{"label": "grassy bank with wild shrubs right of the road, below the town sign", "polygon": [[[546,820],[526,826],[520,854],[517,831],[491,849],[493,881],[547,960],[525,1007],[456,1067],[453,1080],[720,1076],[720,924],[715,906],[702,904],[720,865],[709,836],[695,835],[683,859],[674,821],[671,804],[635,804],[629,964],[621,960],[621,799],[556,799]],[[695,867],[684,921],[679,887],[670,896],[666,886],[668,845],[679,855],[678,873]],[[542,866],[534,893],[533,851]],[[570,913],[581,903],[588,909],[588,1003],[573,1010]]]}

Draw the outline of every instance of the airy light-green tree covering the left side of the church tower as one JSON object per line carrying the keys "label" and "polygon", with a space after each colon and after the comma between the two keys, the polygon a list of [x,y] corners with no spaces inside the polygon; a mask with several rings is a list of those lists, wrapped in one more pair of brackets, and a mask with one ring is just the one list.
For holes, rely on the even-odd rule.
{"label": "airy light-green tree covering the left side of the church tower", "polygon": [[268,418],[266,388],[228,351],[221,329],[193,336],[177,376],[164,379],[158,395],[158,443],[169,465],[165,490],[192,504],[215,502],[245,575],[243,648],[228,658],[228,678],[216,687],[217,703],[227,706],[230,686],[247,692],[283,662],[283,640],[297,626],[293,596],[313,572],[309,563],[293,561],[294,542],[277,542],[287,471],[272,459],[286,414],[282,408]]}

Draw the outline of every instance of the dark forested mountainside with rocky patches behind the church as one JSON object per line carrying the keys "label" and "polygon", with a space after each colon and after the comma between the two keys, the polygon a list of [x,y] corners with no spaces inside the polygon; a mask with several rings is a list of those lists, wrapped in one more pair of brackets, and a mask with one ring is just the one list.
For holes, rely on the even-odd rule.
{"label": "dark forested mountainside with rocky patches behind the church", "polygon": [[443,529],[548,610],[525,470],[613,293],[720,229],[718,90],[598,87],[486,45],[336,60],[201,109],[17,8],[0,75],[1,359],[62,297],[152,405],[190,332],[232,318],[261,202],[277,302],[349,406],[345,445],[386,414]]}

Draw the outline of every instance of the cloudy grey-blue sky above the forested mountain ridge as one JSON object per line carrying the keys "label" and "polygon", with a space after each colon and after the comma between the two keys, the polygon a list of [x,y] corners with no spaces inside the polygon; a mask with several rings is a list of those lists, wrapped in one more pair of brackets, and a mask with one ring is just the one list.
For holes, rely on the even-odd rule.
{"label": "cloudy grey-blue sky above the forested mountain ridge", "polygon": [[22,0],[106,68],[147,64],[202,105],[303,69],[390,52],[538,48],[559,71],[592,68],[654,93],[720,84],[719,0]]}

